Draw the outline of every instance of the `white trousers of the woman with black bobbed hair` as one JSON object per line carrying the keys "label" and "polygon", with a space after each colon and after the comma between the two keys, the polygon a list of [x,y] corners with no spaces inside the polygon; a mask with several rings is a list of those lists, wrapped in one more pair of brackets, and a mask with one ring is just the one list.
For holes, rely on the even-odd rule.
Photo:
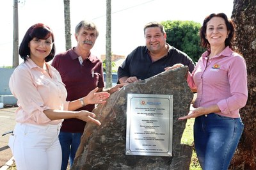
{"label": "white trousers of the woman with black bobbed hair", "polygon": [[17,170],[61,169],[60,125],[17,123],[9,146]]}

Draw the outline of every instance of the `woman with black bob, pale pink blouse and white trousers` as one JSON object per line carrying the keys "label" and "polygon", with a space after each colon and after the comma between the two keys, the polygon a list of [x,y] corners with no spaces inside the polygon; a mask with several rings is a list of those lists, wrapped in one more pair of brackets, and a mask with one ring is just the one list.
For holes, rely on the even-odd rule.
{"label": "woman with black bob, pale pink blouse and white trousers", "polygon": [[24,63],[10,77],[10,89],[17,98],[16,125],[9,139],[17,169],[60,169],[58,140],[63,119],[78,118],[100,125],[95,114],[74,111],[86,104],[106,102],[109,93],[93,89],[86,97],[67,102],[60,73],[47,64],[54,57],[54,35],[44,24],[29,27],[19,48]]}

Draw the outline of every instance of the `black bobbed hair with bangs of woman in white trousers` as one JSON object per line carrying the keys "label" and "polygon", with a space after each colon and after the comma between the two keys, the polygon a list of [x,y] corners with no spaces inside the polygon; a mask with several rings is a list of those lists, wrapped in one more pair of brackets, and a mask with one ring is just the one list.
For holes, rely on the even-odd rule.
{"label": "black bobbed hair with bangs of woman in white trousers", "polygon": [[33,38],[46,40],[50,36],[52,36],[52,50],[50,54],[45,58],[45,61],[51,61],[55,55],[54,35],[52,33],[51,28],[42,23],[34,24],[33,26],[29,27],[28,31],[24,35],[22,42],[20,43],[20,58],[26,61],[27,57],[30,56],[30,49],[28,47],[28,44]]}

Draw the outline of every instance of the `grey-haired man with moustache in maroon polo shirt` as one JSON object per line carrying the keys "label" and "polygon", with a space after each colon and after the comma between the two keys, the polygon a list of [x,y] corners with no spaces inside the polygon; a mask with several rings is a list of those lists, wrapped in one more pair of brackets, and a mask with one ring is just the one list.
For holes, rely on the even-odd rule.
{"label": "grey-haired man with moustache in maroon polo shirt", "polygon": [[[75,36],[77,46],[56,55],[52,61],[52,66],[60,72],[62,81],[66,85],[67,101],[84,97],[96,87],[99,91],[104,88],[102,61],[90,52],[99,36],[97,27],[93,22],[82,20],[76,26]],[[113,93],[120,87],[122,85],[116,85],[109,90],[109,93]],[[92,104],[84,104],[83,100],[81,105],[83,107],[77,111],[92,111],[95,107]],[[61,170],[67,169],[68,158],[70,167],[72,166],[85,124],[85,121],[78,119],[63,121],[59,135],[62,150]]]}

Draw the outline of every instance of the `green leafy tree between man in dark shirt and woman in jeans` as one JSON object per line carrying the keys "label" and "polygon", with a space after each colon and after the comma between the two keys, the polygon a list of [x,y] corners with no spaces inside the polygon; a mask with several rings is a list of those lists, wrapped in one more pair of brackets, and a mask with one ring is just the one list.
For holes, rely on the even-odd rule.
{"label": "green leafy tree between man in dark shirt and woman in jeans", "polygon": [[199,31],[201,25],[194,21],[167,20],[161,22],[166,31],[166,42],[173,47],[182,50],[197,62],[205,51],[200,47]]}

